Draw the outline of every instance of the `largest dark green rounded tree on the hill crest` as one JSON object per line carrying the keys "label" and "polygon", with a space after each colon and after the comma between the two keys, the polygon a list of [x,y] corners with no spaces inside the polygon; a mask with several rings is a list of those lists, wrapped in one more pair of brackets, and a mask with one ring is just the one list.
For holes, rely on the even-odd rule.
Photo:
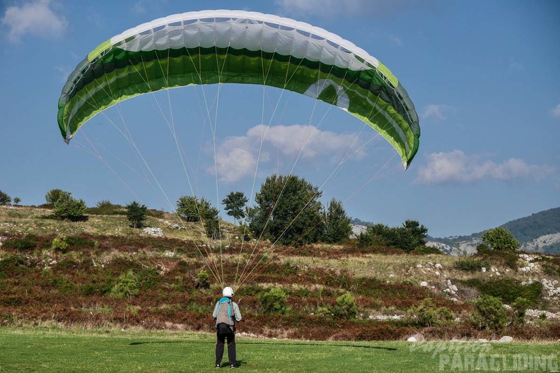
{"label": "largest dark green rounded tree on the hill crest", "polygon": [[295,175],[267,177],[247,214],[251,232],[284,245],[317,242],[322,236],[321,194]]}

